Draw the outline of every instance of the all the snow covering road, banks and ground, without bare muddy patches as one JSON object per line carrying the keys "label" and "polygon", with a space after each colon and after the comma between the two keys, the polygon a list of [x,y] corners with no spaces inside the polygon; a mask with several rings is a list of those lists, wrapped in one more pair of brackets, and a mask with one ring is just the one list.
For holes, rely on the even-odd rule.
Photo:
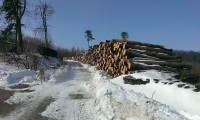
{"label": "all the snow covering road, banks and ground, without bare muddy patches", "polygon": [[[46,70],[48,80],[43,84],[34,80],[37,73],[0,63],[0,88],[11,90],[13,84],[26,83],[30,87],[24,89],[34,90],[15,92],[7,99],[8,104],[20,105],[9,115],[0,115],[1,120],[26,119],[48,97],[53,101],[39,114],[57,120],[200,120],[199,92],[178,88],[177,83],[164,85],[162,81],[171,78],[167,73],[131,74],[150,79],[147,85],[124,84],[123,76],[113,79],[75,61]],[[156,84],[153,79],[161,81]]]}

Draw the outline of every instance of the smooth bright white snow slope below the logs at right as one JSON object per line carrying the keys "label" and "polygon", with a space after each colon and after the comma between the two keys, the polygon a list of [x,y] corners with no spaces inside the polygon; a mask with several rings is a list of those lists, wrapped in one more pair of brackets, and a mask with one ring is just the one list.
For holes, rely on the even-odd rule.
{"label": "smooth bright white snow slope below the logs at right", "polygon": [[[162,104],[166,104],[180,114],[191,120],[200,120],[200,93],[193,92],[194,86],[189,85],[191,89],[178,88],[178,84],[182,82],[174,83],[172,85],[163,84],[168,78],[172,78],[172,74],[157,72],[155,70],[149,70],[141,73],[131,74],[135,78],[141,78],[143,80],[150,79],[150,83],[146,85],[129,85],[123,83],[123,76],[112,79],[111,82],[122,86],[124,89],[134,90],[135,92],[142,93],[148,98],[152,98],[159,101]],[[159,83],[155,83],[153,79],[159,79]],[[173,81],[173,80],[172,80]]]}

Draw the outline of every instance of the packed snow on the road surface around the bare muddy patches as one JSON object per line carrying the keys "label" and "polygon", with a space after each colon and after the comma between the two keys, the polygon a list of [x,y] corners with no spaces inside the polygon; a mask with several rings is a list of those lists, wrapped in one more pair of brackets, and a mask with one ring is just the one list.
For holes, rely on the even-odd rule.
{"label": "packed snow on the road surface around the bare muddy patches", "polygon": [[[82,87],[82,82],[89,82],[91,76],[89,72],[79,65],[77,62],[71,61],[59,69],[46,70],[50,76],[43,84],[37,81],[26,83],[31,85],[30,88],[34,90],[33,92],[15,92],[13,96],[5,101],[11,105],[23,103],[23,107],[12,112],[7,117],[0,117],[0,119],[20,119],[20,117],[24,118],[24,115],[31,115],[31,112],[37,109],[39,103],[50,96],[55,101],[48,105],[45,111],[40,113],[42,116],[58,120],[93,120],[95,118],[95,111],[93,111],[94,107],[92,106],[95,103],[95,98]],[[28,73],[24,73],[25,76],[29,76]],[[18,79],[17,82],[20,83]],[[10,85],[12,84],[8,83],[4,87],[10,89],[8,88]],[[84,99],[73,100],[70,98],[70,94],[81,94]]]}

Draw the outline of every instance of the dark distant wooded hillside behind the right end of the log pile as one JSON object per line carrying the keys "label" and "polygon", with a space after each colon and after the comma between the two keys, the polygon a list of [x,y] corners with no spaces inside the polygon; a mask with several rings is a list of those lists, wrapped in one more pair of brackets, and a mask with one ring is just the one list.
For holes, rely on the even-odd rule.
{"label": "dark distant wooded hillside behind the right end of the log pile", "polygon": [[183,50],[174,50],[174,52],[182,57],[183,63],[192,65],[192,72],[200,73],[200,52]]}

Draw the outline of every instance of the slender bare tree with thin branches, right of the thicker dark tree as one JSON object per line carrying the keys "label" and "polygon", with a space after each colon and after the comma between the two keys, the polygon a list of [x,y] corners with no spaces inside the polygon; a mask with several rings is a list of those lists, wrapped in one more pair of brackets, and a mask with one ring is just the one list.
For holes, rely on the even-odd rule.
{"label": "slender bare tree with thin branches, right of the thicker dark tree", "polygon": [[50,19],[53,13],[54,13],[53,6],[50,3],[47,3],[46,1],[40,0],[38,4],[35,6],[35,15],[37,18],[39,17],[41,20],[39,27],[36,28],[36,32],[42,33],[44,35],[47,48],[50,47],[50,42],[48,39],[49,25],[47,21]]}

